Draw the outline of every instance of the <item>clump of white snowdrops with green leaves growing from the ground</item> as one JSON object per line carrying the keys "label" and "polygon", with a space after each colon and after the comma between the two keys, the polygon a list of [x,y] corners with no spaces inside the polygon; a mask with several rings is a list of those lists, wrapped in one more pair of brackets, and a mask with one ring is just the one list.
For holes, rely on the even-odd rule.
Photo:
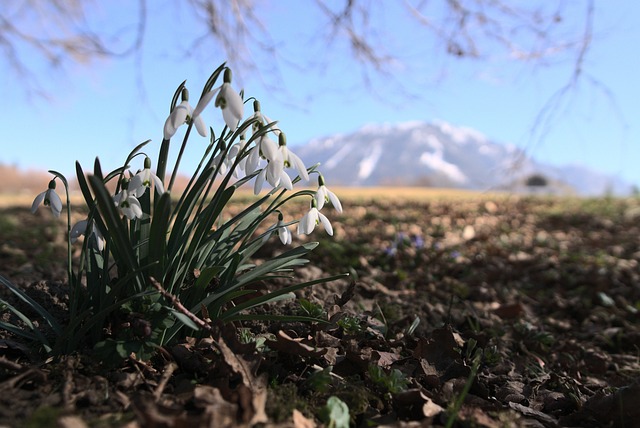
{"label": "clump of white snowdrops with green leaves growing from the ground", "polygon": [[[144,358],[160,346],[219,322],[310,320],[249,310],[295,298],[296,290],[341,275],[262,293],[253,287],[275,278],[294,278],[295,268],[308,262],[304,257],[317,243],[294,246],[292,229],[310,234],[321,226],[332,235],[331,223],[320,210],[331,204],[341,212],[342,206],[317,166],[307,168],[287,146],[277,123],[262,112],[259,101],[243,99],[231,80],[230,69],[224,64],[218,67],[195,107],[186,82],[177,88],[155,161],[146,151],[150,141],[145,141],[131,151],[122,167],[110,172],[102,170],[97,158],[90,174],[76,162],[86,219],[71,224],[69,183],[64,175],[50,171],[53,178],[33,201],[32,211],[44,205],[58,217],[66,205],[68,317],[56,319],[0,277],[40,318],[30,319],[0,300],[0,309],[11,312],[13,320],[0,322],[0,328],[32,340],[49,353],[92,347],[108,359],[131,353]],[[245,114],[248,107],[253,112]],[[215,134],[206,121],[218,109],[225,126]],[[179,135],[182,142],[175,147],[173,141]],[[203,146],[186,189],[173,194],[184,153]],[[316,179],[317,189],[295,189],[300,181]],[[56,193],[59,184],[66,204]],[[237,214],[228,214],[225,208],[245,184],[253,185],[256,197]],[[286,206],[300,198],[308,201],[308,212],[302,218],[287,218]],[[274,240],[282,251],[256,264],[256,252]],[[79,259],[72,257],[74,245],[81,246]]]}

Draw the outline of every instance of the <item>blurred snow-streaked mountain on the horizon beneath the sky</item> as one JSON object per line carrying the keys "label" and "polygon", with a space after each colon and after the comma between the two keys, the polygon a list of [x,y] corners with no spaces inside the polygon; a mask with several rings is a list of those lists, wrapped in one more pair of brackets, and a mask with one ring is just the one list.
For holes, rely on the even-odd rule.
{"label": "blurred snow-streaked mountain on the horizon beneath the sky", "polygon": [[[629,194],[621,180],[580,166],[553,167],[511,145],[446,122],[366,125],[351,134],[297,146],[305,161],[320,162],[333,186],[429,186],[476,190]],[[544,185],[531,186],[532,177]],[[538,183],[540,184],[540,183]]]}

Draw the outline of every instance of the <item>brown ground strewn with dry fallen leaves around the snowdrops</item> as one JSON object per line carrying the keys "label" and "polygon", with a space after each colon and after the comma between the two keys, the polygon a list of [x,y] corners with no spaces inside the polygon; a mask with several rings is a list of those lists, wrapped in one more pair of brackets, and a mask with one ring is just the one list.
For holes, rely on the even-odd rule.
{"label": "brown ground strewn with dry fallen leaves around the snowdrops", "polygon": [[[640,201],[343,204],[297,272],[356,274],[300,292],[328,323],[227,325],[116,368],[0,333],[0,425],[329,426],[338,397],[357,427],[640,426]],[[0,274],[64,311],[50,214],[0,210]]]}

